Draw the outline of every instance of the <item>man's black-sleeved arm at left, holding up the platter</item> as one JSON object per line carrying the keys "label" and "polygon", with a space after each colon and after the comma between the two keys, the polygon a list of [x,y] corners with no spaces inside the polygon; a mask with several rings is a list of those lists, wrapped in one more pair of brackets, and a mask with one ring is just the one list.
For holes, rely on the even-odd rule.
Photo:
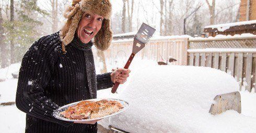
{"label": "man's black-sleeved arm at left, holding up the platter", "polygon": [[51,41],[53,40],[48,37],[42,37],[29,48],[22,59],[16,106],[31,116],[69,126],[73,123],[52,116],[53,111],[59,107],[44,95],[44,87],[49,83],[51,67],[54,65],[54,48],[48,45]]}

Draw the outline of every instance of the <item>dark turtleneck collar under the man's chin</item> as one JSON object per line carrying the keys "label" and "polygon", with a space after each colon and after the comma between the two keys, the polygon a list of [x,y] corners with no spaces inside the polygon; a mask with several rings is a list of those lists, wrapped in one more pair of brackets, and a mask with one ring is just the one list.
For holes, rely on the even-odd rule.
{"label": "dark turtleneck collar under the man's chin", "polygon": [[87,44],[80,41],[80,39],[76,33],[74,35],[73,41],[70,44],[71,44],[71,46],[73,46],[79,50],[83,50],[83,51],[90,50],[93,45],[91,41]]}

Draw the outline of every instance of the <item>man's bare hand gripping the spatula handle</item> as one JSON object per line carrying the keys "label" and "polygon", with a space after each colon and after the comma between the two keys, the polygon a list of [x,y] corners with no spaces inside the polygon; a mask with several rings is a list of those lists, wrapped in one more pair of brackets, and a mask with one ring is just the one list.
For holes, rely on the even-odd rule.
{"label": "man's bare hand gripping the spatula handle", "polygon": [[111,74],[111,81],[113,83],[119,82],[120,84],[123,84],[126,82],[127,77],[129,77],[129,73],[131,71],[129,69],[115,69]]}

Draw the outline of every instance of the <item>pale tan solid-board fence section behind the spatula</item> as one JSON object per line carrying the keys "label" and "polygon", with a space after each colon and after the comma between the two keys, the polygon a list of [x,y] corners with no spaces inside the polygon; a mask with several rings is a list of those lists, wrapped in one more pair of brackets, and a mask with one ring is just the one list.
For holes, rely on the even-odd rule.
{"label": "pale tan solid-board fence section behind the spatula", "polygon": [[[105,52],[107,59],[125,56],[129,58],[132,53],[133,39],[127,41],[113,41],[111,47]],[[172,62],[175,65],[187,65],[188,38],[153,39],[136,57],[143,59],[165,61],[171,57],[178,61]]]}

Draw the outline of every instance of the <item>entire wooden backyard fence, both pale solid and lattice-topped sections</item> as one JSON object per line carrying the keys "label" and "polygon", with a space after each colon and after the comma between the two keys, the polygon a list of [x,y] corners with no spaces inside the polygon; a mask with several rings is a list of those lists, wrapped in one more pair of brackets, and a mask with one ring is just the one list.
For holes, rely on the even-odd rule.
{"label": "entire wooden backyard fence, both pale solid and lattice-topped sections", "polygon": [[[107,59],[128,58],[133,39],[113,41],[105,52]],[[215,49],[213,49],[215,48]],[[220,49],[221,48],[221,49]],[[223,49],[229,48],[229,49]],[[242,48],[242,49],[237,49]],[[256,37],[237,38],[161,38],[151,40],[138,52],[137,57],[160,61],[169,57],[177,59],[174,65],[194,65],[219,69],[230,73],[239,82],[240,89],[256,89]]]}

